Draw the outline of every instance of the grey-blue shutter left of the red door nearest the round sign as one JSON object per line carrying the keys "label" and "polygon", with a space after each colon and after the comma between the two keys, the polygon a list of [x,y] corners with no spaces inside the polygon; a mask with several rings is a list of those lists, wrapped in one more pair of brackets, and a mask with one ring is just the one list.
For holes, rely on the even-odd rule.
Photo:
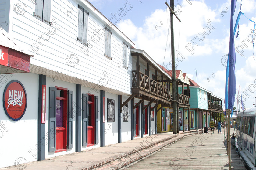
{"label": "grey-blue shutter left of the red door nearest the round sign", "polygon": [[49,95],[49,152],[56,151],[56,94],[57,88],[50,87]]}

